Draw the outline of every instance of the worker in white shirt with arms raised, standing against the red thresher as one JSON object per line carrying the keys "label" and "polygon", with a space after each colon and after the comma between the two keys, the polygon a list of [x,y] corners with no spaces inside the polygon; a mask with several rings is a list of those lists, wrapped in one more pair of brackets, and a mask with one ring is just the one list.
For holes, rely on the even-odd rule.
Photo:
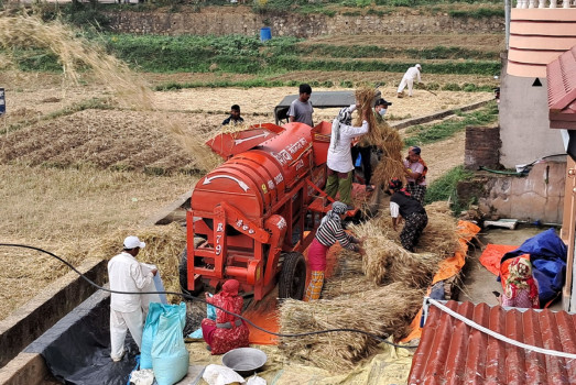
{"label": "worker in white shirt with arms raised, standing against the red thresher", "polygon": [[358,106],[343,108],[338,117],[332,123],[330,146],[328,148],[328,179],[326,180],[326,194],[336,198],[336,193],[340,194],[339,200],[347,205],[348,210],[354,210],[352,190],[352,139],[368,132],[367,111],[363,111],[362,125],[352,127],[352,112]]}

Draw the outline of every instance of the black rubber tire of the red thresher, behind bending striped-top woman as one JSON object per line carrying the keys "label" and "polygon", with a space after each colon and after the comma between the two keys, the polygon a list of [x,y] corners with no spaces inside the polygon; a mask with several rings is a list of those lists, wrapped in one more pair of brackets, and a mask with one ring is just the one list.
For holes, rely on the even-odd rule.
{"label": "black rubber tire of the red thresher, behind bending striped-top woman", "polygon": [[280,298],[293,298],[302,300],[306,288],[306,260],[297,252],[284,254],[284,263],[280,272],[278,285]]}

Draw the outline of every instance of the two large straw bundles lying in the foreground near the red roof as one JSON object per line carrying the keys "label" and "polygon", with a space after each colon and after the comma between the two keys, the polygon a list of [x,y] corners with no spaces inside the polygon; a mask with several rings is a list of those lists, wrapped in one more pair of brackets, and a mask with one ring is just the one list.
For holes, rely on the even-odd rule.
{"label": "two large straw bundles lying in the foreground near the red roof", "polygon": [[[396,283],[338,300],[302,302],[287,299],[280,308],[281,332],[352,328],[382,338],[401,338],[422,304],[422,290]],[[361,304],[361,306],[359,306]],[[283,338],[279,349],[295,360],[343,372],[352,369],[378,350],[379,342],[354,332],[335,332],[306,338]]]}

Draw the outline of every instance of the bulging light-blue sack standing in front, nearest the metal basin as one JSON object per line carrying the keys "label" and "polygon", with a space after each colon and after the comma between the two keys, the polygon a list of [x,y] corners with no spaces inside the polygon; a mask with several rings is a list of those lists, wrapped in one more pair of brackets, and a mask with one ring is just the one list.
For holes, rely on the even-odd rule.
{"label": "bulging light-blue sack standing in front, nearest the metal basin", "polygon": [[173,385],[188,373],[189,356],[184,344],[186,304],[172,305],[160,316],[152,343],[152,370],[159,385]]}

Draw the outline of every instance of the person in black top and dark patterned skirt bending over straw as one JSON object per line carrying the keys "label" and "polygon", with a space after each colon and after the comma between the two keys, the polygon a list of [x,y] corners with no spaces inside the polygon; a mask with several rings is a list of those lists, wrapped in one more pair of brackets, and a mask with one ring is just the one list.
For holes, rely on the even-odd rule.
{"label": "person in black top and dark patterned skirt bending over straw", "polygon": [[404,218],[404,228],[400,233],[400,243],[407,251],[414,253],[414,246],[419,242],[422,231],[428,224],[428,216],[420,201],[412,198],[402,182],[394,178],[388,185],[390,197],[390,215],[392,216],[392,227],[398,231],[398,224]]}

